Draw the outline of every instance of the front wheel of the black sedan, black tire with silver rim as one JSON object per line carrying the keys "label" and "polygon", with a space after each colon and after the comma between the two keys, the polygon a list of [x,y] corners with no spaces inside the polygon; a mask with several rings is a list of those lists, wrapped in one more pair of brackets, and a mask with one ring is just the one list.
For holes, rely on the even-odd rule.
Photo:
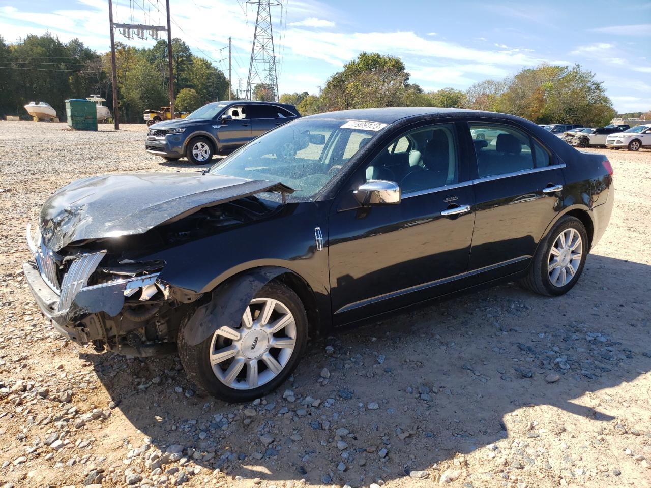
{"label": "front wheel of the black sedan, black tire with silver rim", "polygon": [[[274,308],[272,308],[266,324],[262,323],[263,327],[260,327],[256,324],[259,320],[264,321],[261,316],[267,303],[272,303]],[[253,322],[249,327],[245,327],[243,317],[240,327],[235,331],[241,337],[239,344],[233,338],[226,338],[223,332],[218,333],[218,331],[200,344],[190,346],[184,342],[184,334],[178,334],[178,352],[189,378],[215,398],[234,403],[255,400],[275,390],[294,371],[307,346],[308,327],[305,307],[298,295],[287,286],[277,282],[266,284],[247,306],[247,310],[251,311]],[[278,332],[275,332],[272,336],[268,335],[265,332],[268,329],[264,325],[273,322],[277,323],[287,316],[286,312],[291,314],[293,326],[292,321],[288,321]],[[240,333],[240,331],[246,329],[250,329],[249,332]],[[263,329],[263,331],[260,332],[260,329]],[[232,329],[230,329],[229,334],[232,334]],[[270,348],[268,347],[270,339],[284,339],[286,346],[293,339],[293,349],[288,347]],[[255,351],[256,344],[259,343],[262,343],[262,348]],[[211,354],[214,359],[219,359],[219,354],[215,353],[226,348],[236,351],[234,357],[227,357],[227,359],[221,360],[215,366],[211,366]],[[253,354],[256,356],[251,357]],[[268,361],[270,361],[268,355],[273,357],[275,361],[275,364],[273,362],[269,364],[279,368],[277,372],[267,366]],[[242,366],[234,379],[230,380],[228,373],[237,369],[234,366],[236,362],[242,364]],[[249,373],[252,370],[251,364],[253,363],[257,365],[253,369],[256,370],[258,382],[256,384],[259,385],[255,387],[249,385],[251,381]],[[217,371],[213,368],[216,368]],[[219,377],[217,377],[218,373]],[[253,378],[253,375],[251,375],[251,378]]]}

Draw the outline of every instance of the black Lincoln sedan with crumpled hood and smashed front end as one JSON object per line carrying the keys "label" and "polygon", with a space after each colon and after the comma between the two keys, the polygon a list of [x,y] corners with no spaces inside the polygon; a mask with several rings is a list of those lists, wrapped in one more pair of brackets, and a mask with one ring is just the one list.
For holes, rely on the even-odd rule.
{"label": "black Lincoln sedan with crumpled hood and smashed front end", "polygon": [[64,336],[128,355],[178,348],[198,385],[245,401],[333,327],[504,280],[566,293],[614,198],[604,156],[515,116],[326,113],[203,173],[63,187],[27,232],[23,270]]}

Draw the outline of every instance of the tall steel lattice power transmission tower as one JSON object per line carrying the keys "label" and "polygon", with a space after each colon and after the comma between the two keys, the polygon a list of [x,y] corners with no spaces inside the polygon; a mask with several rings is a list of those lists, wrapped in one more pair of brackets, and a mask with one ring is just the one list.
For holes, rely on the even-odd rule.
{"label": "tall steel lattice power transmission tower", "polygon": [[271,7],[283,5],[279,0],[247,0],[258,6],[255,18],[255,33],[251,47],[249,77],[246,83],[246,98],[253,98],[253,88],[258,83],[273,90],[273,99],[278,100],[278,70],[273,49],[273,27],[271,27]]}

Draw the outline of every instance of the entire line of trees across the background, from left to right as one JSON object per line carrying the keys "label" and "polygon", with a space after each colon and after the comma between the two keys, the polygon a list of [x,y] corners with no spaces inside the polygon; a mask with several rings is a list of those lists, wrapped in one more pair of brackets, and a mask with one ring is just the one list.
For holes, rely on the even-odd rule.
{"label": "entire line of trees across the background, from left to right", "polygon": [[[234,99],[227,77],[212,62],[173,40],[176,109],[193,111],[204,103]],[[145,109],[169,105],[167,43],[136,48],[116,43],[120,122],[142,122]],[[616,115],[603,83],[581,66],[541,64],[501,80],[487,79],[467,90],[424,91],[409,81],[398,57],[361,53],[331,75],[318,94],[284,93],[280,101],[302,115],[370,107],[457,107],[519,115],[538,124],[607,124]],[[436,81],[436,80],[433,80]],[[31,101],[48,102],[60,118],[64,100],[99,94],[113,109],[111,55],[99,54],[79,39],[61,42],[50,33],[29,34],[7,44],[0,36],[0,116],[20,115]],[[255,100],[275,100],[273,87],[258,84]]]}

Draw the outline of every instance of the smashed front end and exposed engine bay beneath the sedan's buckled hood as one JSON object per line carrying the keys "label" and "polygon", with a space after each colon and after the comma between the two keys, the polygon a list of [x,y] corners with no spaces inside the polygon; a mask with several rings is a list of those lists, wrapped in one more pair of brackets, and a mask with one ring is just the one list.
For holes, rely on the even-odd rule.
{"label": "smashed front end and exposed engine bay beneath the sedan's buckled hood", "polygon": [[[159,277],[165,262],[143,256],[272,217],[281,207],[249,195],[203,206],[144,234],[75,241],[56,252],[42,243],[40,234],[36,243],[31,241],[28,229],[35,262],[31,270],[23,269],[30,282],[40,274],[50,290],[33,288],[39,305],[59,332],[78,344],[132,356],[169,353],[175,350],[180,326],[202,304],[202,294],[166,282]],[[37,295],[47,297],[48,292],[49,303],[44,304]]]}

